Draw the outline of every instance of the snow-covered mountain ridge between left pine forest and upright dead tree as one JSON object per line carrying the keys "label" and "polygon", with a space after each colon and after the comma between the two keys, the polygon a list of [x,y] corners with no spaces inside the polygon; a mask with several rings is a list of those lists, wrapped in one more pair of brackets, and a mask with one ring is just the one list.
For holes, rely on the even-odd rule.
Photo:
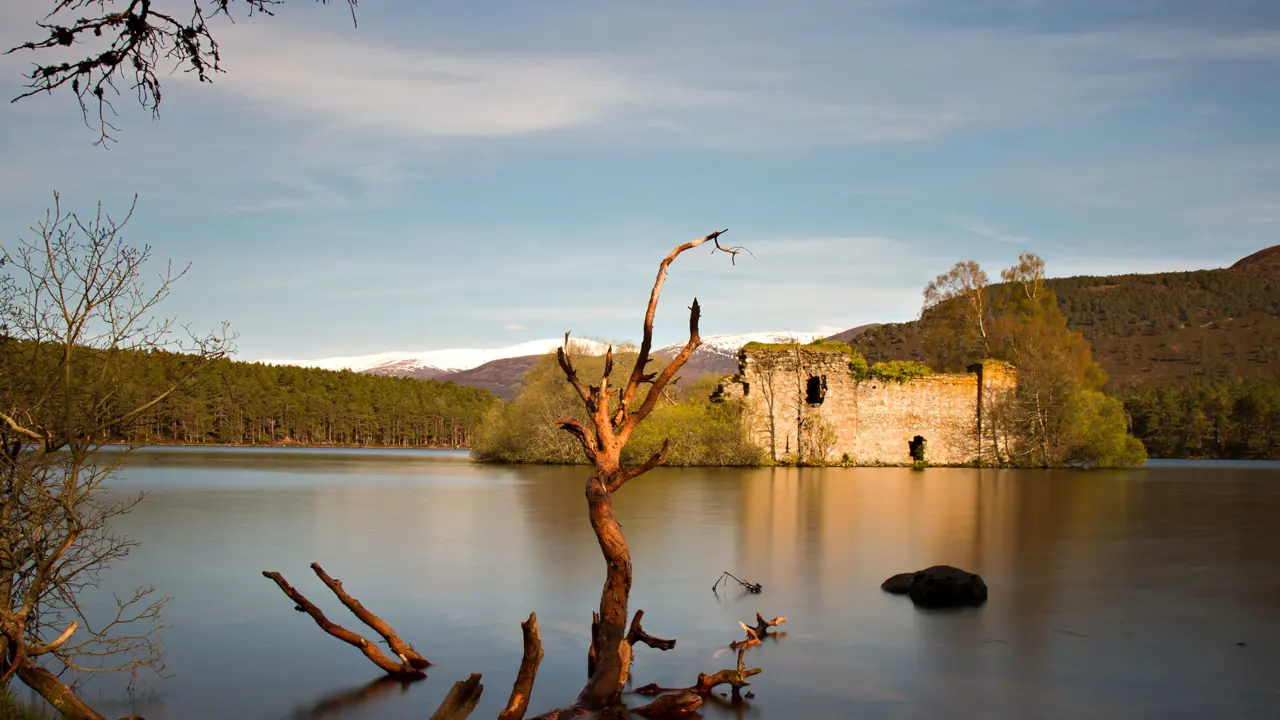
{"label": "snow-covered mountain ridge between left pine forest and upright dead tree", "polygon": [[[353,370],[375,375],[408,375],[435,378],[479,368],[485,363],[507,357],[539,356],[554,352],[563,340],[535,340],[507,347],[425,350],[421,352],[379,352],[320,360],[262,360],[268,365],[300,365],[325,370]],[[604,345],[594,340],[570,340],[572,350],[584,354],[604,352]]]}

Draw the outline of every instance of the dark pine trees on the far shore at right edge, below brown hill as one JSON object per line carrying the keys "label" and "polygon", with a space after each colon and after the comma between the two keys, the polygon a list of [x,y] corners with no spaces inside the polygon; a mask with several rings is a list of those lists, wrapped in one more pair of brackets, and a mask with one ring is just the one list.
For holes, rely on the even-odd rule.
{"label": "dark pine trees on the far shore at right edge, below brown hill", "polygon": [[1153,457],[1280,457],[1280,378],[1130,387],[1121,397]]}

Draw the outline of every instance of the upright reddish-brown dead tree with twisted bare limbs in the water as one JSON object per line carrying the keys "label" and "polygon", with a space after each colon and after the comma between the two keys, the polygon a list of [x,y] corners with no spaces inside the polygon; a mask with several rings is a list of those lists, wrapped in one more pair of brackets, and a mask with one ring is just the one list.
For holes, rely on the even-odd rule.
{"label": "upright reddish-brown dead tree with twisted bare limbs in the water", "polygon": [[[622,527],[613,515],[613,493],[628,480],[657,468],[667,455],[667,443],[641,465],[622,466],[622,448],[636,425],[644,421],[662,397],[667,384],[685,365],[694,350],[701,345],[698,334],[698,320],[701,310],[695,299],[689,313],[689,340],[672,361],[658,373],[649,373],[646,365],[653,360],[653,320],[658,311],[658,297],[667,279],[667,272],[676,258],[705,242],[714,242],[718,250],[736,255],[741,249],[723,247],[719,236],[726,231],[713,232],[705,237],[686,242],[672,250],[658,265],[658,277],[649,293],[649,306],[645,310],[644,334],[640,352],[631,369],[625,388],[609,388],[609,374],[613,370],[613,348],[604,356],[604,373],[596,386],[584,386],[573,369],[568,352],[568,333],[564,333],[564,346],[557,352],[564,378],[586,407],[590,427],[573,418],[559,418],[561,428],[573,434],[582,445],[582,451],[591,462],[593,473],[586,480],[588,516],[595,530],[600,552],[604,555],[605,578],[600,592],[599,625],[593,633],[591,653],[595,661],[591,676],[582,688],[579,702],[591,710],[616,706],[621,702],[622,687],[631,667],[631,643],[627,642],[627,601],[631,597],[631,552],[627,550]],[[637,397],[641,386],[649,386],[643,397]]]}

